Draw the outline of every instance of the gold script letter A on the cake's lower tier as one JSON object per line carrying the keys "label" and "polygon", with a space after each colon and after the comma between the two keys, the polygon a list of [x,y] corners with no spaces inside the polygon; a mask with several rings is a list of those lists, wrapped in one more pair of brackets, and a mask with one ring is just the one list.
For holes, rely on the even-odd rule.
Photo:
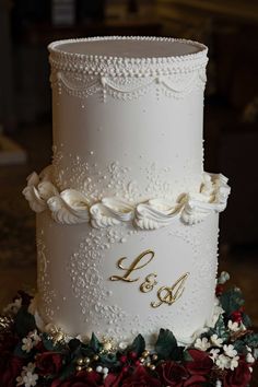
{"label": "gold script letter A on the cake's lower tier", "polygon": [[180,298],[185,288],[185,282],[187,278],[189,277],[189,273],[183,274],[173,285],[172,288],[168,286],[162,286],[157,291],[157,298],[160,301],[152,302],[151,306],[152,307],[159,307],[162,304],[167,304],[172,305],[174,304],[178,298]]}

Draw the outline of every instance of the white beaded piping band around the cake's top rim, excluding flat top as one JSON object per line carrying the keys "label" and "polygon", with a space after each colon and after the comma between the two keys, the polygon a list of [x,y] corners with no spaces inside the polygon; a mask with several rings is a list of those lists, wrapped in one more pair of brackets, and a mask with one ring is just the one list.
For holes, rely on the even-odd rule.
{"label": "white beaded piping band around the cake's top rim, excluding flat top", "polygon": [[[168,42],[191,45],[200,50],[194,54],[171,57],[144,57],[129,58],[119,56],[102,56],[67,52],[61,49],[63,44],[82,42],[107,42],[108,40],[140,40],[140,42]],[[206,67],[208,48],[198,43],[187,39],[175,39],[167,37],[144,37],[144,36],[107,36],[81,39],[68,39],[54,42],[48,46],[50,63],[57,70],[77,73],[112,77],[150,77],[172,73],[186,73]]]}

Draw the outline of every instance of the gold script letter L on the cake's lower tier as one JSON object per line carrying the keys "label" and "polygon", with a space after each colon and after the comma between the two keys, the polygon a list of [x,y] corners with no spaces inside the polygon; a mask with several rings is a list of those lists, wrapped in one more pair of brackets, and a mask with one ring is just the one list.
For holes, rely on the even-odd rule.
{"label": "gold script letter L on the cake's lower tier", "polygon": [[[112,281],[126,281],[126,282],[136,282],[139,280],[139,278],[137,279],[131,279],[130,274],[132,273],[132,271],[136,270],[140,270],[142,268],[144,268],[146,265],[149,265],[151,262],[151,260],[154,258],[155,253],[152,250],[145,250],[143,253],[141,253],[133,261],[132,263],[129,266],[129,268],[125,268],[122,266],[124,261],[127,259],[127,257],[122,257],[118,260],[117,266],[119,269],[125,270],[126,273],[125,275],[112,275],[110,280]],[[142,263],[140,266],[138,266],[138,263],[144,258],[148,257],[148,261],[145,263]]]}

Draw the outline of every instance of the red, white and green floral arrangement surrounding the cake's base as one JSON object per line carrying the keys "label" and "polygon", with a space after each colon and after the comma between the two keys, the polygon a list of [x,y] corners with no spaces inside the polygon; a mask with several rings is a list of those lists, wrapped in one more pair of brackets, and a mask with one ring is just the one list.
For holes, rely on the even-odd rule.
{"label": "red, white and green floral arrangement surrounding the cake's base", "polygon": [[248,386],[258,335],[244,313],[237,288],[216,286],[213,321],[184,347],[161,329],[153,348],[138,335],[132,343],[114,338],[71,338],[58,327],[36,326],[33,296],[19,292],[0,317],[0,385],[46,387]]}

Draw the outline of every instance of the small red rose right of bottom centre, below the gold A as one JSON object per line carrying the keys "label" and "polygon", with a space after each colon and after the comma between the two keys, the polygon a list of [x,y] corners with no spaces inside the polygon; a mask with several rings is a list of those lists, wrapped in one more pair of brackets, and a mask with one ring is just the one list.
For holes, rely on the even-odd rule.
{"label": "small red rose right of bottom centre, below the gold A", "polygon": [[175,362],[164,362],[157,367],[162,383],[171,387],[181,387],[189,374],[186,368]]}

